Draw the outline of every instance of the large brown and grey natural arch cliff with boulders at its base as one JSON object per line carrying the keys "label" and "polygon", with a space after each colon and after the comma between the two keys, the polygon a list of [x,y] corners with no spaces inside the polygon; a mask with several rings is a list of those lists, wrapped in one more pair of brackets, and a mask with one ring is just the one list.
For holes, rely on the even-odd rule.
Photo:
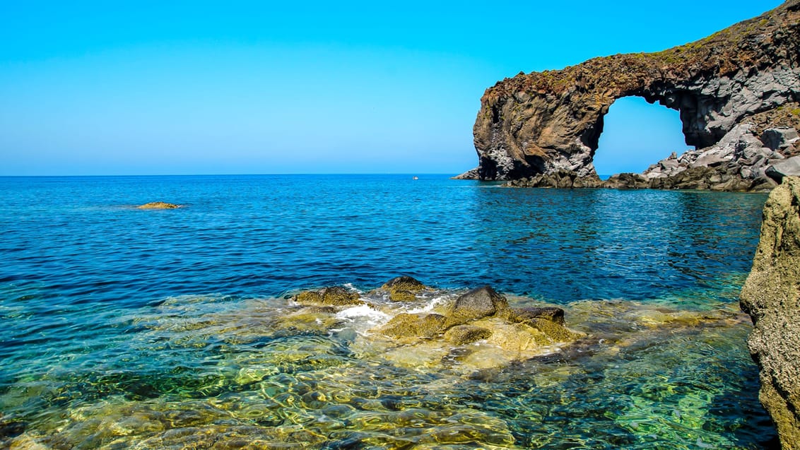
{"label": "large brown and grey natural arch cliff with boulders at its base", "polygon": [[[798,54],[800,0],[789,0],[684,46],[506,78],[481,98],[473,130],[479,165],[460,177],[553,187],[772,188],[800,175]],[[606,185],[592,160],[603,117],[628,96],[678,110],[686,144],[696,149]]]}

